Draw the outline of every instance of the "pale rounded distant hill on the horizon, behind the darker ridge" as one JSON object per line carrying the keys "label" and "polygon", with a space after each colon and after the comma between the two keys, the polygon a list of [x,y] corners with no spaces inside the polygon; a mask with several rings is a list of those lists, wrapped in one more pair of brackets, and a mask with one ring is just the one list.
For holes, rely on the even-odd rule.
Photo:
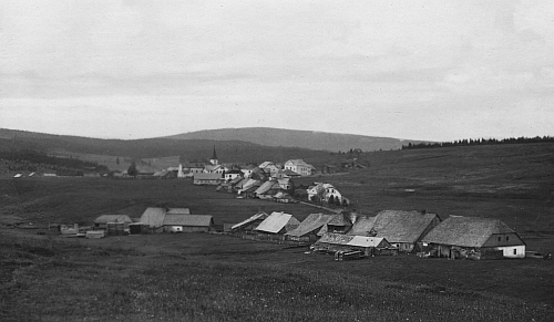
{"label": "pale rounded distant hill on the horizon, behind the darker ridge", "polygon": [[270,127],[206,129],[168,136],[175,139],[237,139],[265,146],[293,146],[330,152],[359,148],[365,152],[379,149],[400,149],[402,145],[418,144],[422,141],[399,139],[328,132],[296,131]]}

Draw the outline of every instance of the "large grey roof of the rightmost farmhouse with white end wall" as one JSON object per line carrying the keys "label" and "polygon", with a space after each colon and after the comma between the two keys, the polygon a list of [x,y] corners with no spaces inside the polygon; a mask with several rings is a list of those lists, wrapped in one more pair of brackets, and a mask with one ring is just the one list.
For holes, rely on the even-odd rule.
{"label": "large grey roof of the rightmost farmhouse with white end wall", "polygon": [[492,235],[512,232],[515,231],[499,219],[451,216],[431,230],[422,241],[479,248]]}

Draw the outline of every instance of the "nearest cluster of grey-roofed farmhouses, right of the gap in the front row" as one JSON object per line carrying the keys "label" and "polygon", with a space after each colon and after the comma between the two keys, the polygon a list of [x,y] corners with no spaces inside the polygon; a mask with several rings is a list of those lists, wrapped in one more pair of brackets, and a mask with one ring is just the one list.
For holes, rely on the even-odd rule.
{"label": "nearest cluster of grey-roofed farmhouses, right of the gap in the front row", "polygon": [[259,212],[230,227],[230,232],[260,240],[312,242],[321,252],[360,251],[365,256],[420,252],[448,258],[523,258],[525,242],[497,219],[383,210],[376,216],[356,212],[311,214],[304,221],[293,215]]}

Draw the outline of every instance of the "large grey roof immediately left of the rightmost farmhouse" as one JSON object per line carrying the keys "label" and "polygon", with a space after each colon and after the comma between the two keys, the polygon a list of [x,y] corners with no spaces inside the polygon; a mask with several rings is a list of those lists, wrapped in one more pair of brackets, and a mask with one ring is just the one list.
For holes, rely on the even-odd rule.
{"label": "large grey roof immediately left of the rightmost farmhouse", "polygon": [[417,210],[383,210],[377,214],[373,229],[377,237],[384,237],[389,242],[413,243],[435,218],[435,214],[421,214]]}

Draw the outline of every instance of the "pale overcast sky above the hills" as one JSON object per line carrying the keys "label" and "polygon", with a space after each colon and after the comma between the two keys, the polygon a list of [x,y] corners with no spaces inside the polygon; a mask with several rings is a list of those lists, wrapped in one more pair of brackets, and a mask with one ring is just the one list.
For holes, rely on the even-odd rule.
{"label": "pale overcast sky above the hills", "polygon": [[0,0],[0,127],[554,135],[554,1]]}

